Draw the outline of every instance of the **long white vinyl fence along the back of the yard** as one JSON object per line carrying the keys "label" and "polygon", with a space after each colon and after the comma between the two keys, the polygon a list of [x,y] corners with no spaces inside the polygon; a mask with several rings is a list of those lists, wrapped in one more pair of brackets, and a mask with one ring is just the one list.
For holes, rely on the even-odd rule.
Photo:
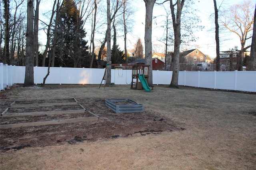
{"label": "long white vinyl fence along the back of the yard", "polygon": [[[47,67],[34,67],[35,84],[43,82],[47,69]],[[104,71],[104,68],[50,67],[46,84],[100,84]],[[0,90],[15,83],[23,84],[24,79],[25,66],[0,63]],[[153,84],[170,84],[171,80],[172,71],[153,70]],[[132,70],[111,70],[111,82],[114,84],[131,84],[131,81]],[[180,71],[178,85],[256,92],[256,71]]]}

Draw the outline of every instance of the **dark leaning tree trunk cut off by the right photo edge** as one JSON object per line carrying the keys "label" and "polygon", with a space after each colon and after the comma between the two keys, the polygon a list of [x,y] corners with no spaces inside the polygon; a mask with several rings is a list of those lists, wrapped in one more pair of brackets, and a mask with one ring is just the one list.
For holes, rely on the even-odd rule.
{"label": "dark leaning tree trunk cut off by the right photo edge", "polygon": [[252,33],[252,45],[251,45],[251,53],[248,61],[248,71],[256,71],[256,6],[254,10],[254,23],[253,23],[253,33]]}

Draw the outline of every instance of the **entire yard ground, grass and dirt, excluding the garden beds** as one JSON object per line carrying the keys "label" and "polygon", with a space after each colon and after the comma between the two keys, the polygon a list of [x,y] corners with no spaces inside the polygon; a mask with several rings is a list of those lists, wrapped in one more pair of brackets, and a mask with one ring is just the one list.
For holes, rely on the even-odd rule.
{"label": "entire yard ground, grass and dirt, excluding the garden beds", "polygon": [[[98,121],[0,130],[0,169],[255,169],[256,93],[167,85],[14,86],[1,91],[1,113],[14,101],[76,98]],[[113,113],[105,99],[144,104]],[[20,121],[12,118],[9,122]],[[18,119],[18,120],[17,120]],[[1,123],[3,119],[1,118]]]}

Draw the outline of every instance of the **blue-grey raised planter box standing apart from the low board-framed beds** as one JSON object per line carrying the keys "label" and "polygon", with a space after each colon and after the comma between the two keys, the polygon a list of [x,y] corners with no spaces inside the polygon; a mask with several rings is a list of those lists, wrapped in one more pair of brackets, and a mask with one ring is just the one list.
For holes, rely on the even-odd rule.
{"label": "blue-grey raised planter box standing apart from the low board-framed beds", "polygon": [[136,113],[144,111],[143,104],[138,104],[130,99],[106,99],[106,106],[115,113]]}

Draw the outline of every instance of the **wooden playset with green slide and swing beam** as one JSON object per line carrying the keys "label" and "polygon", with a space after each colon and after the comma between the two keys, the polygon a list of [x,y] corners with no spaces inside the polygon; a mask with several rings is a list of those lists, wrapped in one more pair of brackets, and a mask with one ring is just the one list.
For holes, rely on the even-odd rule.
{"label": "wooden playset with green slide and swing beam", "polygon": [[[114,69],[122,70],[123,67],[130,69],[132,67],[132,82],[131,89],[134,90],[145,90],[145,92],[151,92],[151,88],[148,86],[148,67],[149,65],[144,64],[106,64],[107,66],[114,66]],[[104,76],[102,81],[105,80],[104,85],[106,86],[106,72],[105,68]],[[100,83],[100,86],[102,84]],[[104,86],[104,88],[105,88]],[[100,87],[99,87],[100,88]]]}

